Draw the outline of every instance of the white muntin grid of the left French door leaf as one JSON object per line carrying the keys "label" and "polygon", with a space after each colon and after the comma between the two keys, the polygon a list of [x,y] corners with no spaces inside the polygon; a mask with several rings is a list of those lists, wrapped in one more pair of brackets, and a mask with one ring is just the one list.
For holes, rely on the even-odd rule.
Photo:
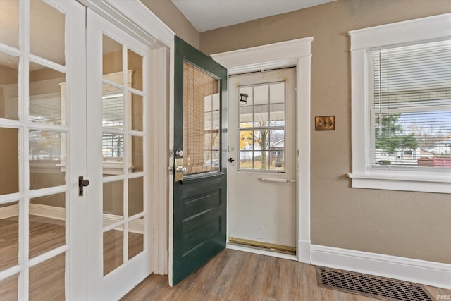
{"label": "white muntin grid of the left French door leaf", "polygon": [[[60,9],[53,6],[51,2],[43,1],[42,3],[47,4],[53,9],[56,9],[58,13],[64,15],[65,18],[65,29],[64,37],[65,44],[68,44],[68,18],[66,18],[66,13]],[[18,47],[10,47],[6,44],[0,43],[0,51],[19,58],[18,64],[18,99],[17,99],[17,109],[18,118],[17,119],[3,119],[0,120],[1,128],[14,128],[18,130],[18,192],[0,195],[0,204],[13,204],[18,203],[18,262],[15,266],[0,271],[0,281],[5,281],[6,279],[17,276],[18,277],[18,300],[27,300],[30,293],[30,269],[34,268],[38,264],[54,259],[58,255],[66,254],[69,250],[69,232],[68,232],[68,166],[61,165],[61,170],[65,173],[64,175],[64,185],[49,186],[45,188],[33,189],[30,187],[30,153],[27,151],[30,149],[30,135],[33,131],[48,131],[52,133],[64,133],[64,141],[61,142],[61,150],[68,149],[68,133],[70,132],[69,121],[67,116],[63,116],[67,111],[68,103],[64,102],[63,99],[68,99],[66,95],[61,95],[61,117],[66,121],[66,123],[58,124],[43,124],[35,123],[31,118],[32,113],[30,112],[30,64],[39,64],[44,68],[50,68],[51,70],[56,70],[59,73],[65,75],[65,82],[68,82],[67,76],[70,70],[68,61],[66,61],[66,66],[63,66],[53,61],[49,61],[42,57],[36,56],[30,53],[30,2],[19,1],[19,27],[18,31]],[[65,107],[66,106],[66,107]],[[64,109],[63,109],[64,107]],[[61,163],[63,163],[63,158],[66,154],[60,154]],[[68,159],[68,158],[65,158]],[[42,254],[38,254],[35,257],[30,258],[30,199],[35,199],[37,197],[53,196],[56,194],[65,195],[64,204],[64,217],[65,219],[65,243],[59,247],[47,250]],[[68,256],[65,255],[65,266],[68,266]],[[66,267],[62,268],[65,270],[63,274],[68,273]],[[65,277],[66,286],[68,284],[68,278]]]}

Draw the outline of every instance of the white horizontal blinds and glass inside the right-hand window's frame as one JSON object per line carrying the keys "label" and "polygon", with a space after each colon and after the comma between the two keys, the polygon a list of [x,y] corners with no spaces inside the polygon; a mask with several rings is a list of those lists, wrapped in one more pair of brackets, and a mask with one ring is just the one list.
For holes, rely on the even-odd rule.
{"label": "white horizontal blinds and glass inside the right-hand window's frame", "polygon": [[451,41],[374,50],[373,164],[451,168]]}

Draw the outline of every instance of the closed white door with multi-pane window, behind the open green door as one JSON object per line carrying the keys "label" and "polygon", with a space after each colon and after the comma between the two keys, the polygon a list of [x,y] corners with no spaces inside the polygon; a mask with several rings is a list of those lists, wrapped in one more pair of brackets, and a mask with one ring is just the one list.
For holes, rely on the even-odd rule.
{"label": "closed white door with multi-pane window, behind the open green door", "polygon": [[295,68],[229,78],[229,242],[295,252],[295,82]]}

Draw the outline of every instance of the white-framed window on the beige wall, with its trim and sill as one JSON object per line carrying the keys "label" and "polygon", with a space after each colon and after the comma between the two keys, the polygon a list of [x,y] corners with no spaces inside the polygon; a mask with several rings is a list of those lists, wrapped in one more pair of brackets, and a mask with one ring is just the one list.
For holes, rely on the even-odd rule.
{"label": "white-framed window on the beige wall, with its trim and sill", "polygon": [[352,187],[451,193],[451,13],[350,37]]}

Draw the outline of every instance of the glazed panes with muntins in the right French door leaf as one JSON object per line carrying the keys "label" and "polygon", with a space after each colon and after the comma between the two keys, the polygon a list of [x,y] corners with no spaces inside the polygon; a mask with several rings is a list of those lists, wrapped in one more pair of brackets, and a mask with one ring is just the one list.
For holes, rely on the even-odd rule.
{"label": "glazed panes with muntins in the right French door leaf", "polygon": [[[123,51],[123,49],[126,49]],[[125,65],[123,61],[126,61]],[[102,35],[102,174],[104,276],[125,264],[142,245],[129,242],[130,233],[143,235],[144,185],[142,55],[108,35]],[[139,175],[140,178],[136,178]],[[126,194],[125,194],[126,192]],[[130,231],[129,228],[135,231]]]}

